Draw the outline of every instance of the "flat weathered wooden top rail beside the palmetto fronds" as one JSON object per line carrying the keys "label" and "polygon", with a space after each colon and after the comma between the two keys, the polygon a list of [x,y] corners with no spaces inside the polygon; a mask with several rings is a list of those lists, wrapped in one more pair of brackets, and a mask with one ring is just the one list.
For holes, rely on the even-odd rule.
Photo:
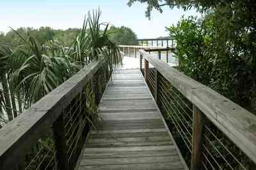
{"label": "flat weathered wooden top rail beside the palmetto fronds", "polygon": [[[32,144],[35,144],[49,128],[51,129],[60,118],[63,109],[81,93],[84,84],[92,80],[93,75],[104,63],[104,60],[92,61],[0,129],[0,169],[13,169],[19,161],[21,162],[21,158],[26,155]],[[60,127],[56,128],[58,131]]]}

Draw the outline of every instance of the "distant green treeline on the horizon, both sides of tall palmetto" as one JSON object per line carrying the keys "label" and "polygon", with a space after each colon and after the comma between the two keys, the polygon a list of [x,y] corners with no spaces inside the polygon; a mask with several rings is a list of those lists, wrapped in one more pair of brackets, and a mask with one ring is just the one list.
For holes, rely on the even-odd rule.
{"label": "distant green treeline on the horizon, both sides of tall palmetto", "polygon": [[[38,42],[38,44],[40,45],[45,44],[51,40],[56,40],[64,47],[69,47],[74,42],[74,37],[79,35],[81,29],[68,28],[65,30],[61,30],[52,29],[51,27],[40,27],[38,29],[34,29],[33,27],[20,27],[15,31],[18,31],[22,36],[26,36],[26,32],[29,32],[29,35],[33,36],[36,42]],[[0,32],[0,42],[9,42],[15,45],[22,44],[23,42],[20,41],[20,38],[17,33],[15,33],[15,31],[11,29],[10,31],[8,31],[8,33],[6,33],[6,35]],[[108,34],[109,39],[118,45],[136,45],[137,43],[137,35],[129,27],[111,26],[108,29]]]}

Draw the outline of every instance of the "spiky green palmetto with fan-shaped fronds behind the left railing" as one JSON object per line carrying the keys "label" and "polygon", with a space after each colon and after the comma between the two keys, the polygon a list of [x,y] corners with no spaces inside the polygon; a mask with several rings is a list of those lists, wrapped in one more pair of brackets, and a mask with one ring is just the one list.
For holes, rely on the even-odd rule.
{"label": "spiky green palmetto with fan-shaped fronds behind the left railing", "polygon": [[[81,31],[70,47],[63,47],[54,40],[39,45],[29,32],[24,34],[13,30],[19,36],[21,45],[0,45],[1,82],[8,85],[6,93],[1,92],[0,112],[7,112],[8,119],[12,120],[12,115],[17,116],[14,114],[16,103],[19,108],[28,108],[93,59],[106,59],[109,70],[119,66],[122,63],[120,51],[109,40],[108,24],[100,23],[100,15],[100,10],[92,14],[88,12]],[[12,105],[8,105],[4,98],[10,98]],[[12,109],[8,110],[6,106]]]}

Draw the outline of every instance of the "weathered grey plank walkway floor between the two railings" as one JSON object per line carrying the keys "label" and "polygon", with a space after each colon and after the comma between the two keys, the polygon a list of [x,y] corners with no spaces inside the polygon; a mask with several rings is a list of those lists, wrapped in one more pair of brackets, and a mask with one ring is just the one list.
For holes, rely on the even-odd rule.
{"label": "weathered grey plank walkway floor between the two railings", "polygon": [[186,169],[140,70],[113,74],[77,169]]}

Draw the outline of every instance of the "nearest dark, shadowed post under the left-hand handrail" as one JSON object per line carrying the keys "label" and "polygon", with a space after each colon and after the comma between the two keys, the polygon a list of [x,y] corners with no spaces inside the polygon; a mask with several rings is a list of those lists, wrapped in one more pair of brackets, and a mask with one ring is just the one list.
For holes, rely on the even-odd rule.
{"label": "nearest dark, shadowed post under the left-hand handrail", "polygon": [[52,124],[52,131],[54,133],[57,167],[59,170],[68,170],[67,137],[65,134],[63,114]]}

